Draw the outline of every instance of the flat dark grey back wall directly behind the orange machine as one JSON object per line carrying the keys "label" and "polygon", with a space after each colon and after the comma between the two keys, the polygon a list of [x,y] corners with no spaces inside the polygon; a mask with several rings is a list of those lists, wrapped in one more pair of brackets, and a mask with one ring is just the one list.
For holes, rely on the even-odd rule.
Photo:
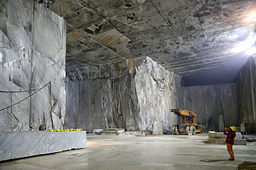
{"label": "flat dark grey back wall directly behind the orange machine", "polygon": [[205,131],[237,126],[236,101],[235,83],[184,87],[184,106],[199,114],[198,123]]}

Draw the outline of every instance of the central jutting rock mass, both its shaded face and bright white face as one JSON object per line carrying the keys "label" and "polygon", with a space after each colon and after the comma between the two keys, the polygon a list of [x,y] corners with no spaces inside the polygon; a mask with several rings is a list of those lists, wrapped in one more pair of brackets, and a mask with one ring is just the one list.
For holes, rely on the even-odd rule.
{"label": "central jutting rock mass, both its shaded face and bright white face", "polygon": [[183,103],[181,77],[149,58],[67,72],[65,125],[83,129],[152,130],[176,118],[169,109]]}

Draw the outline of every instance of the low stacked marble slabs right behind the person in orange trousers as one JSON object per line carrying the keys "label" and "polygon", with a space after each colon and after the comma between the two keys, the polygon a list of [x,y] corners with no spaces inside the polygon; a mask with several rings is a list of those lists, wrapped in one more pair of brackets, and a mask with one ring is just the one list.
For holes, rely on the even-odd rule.
{"label": "low stacked marble slabs right behind the person in orange trousers", "polygon": [[[211,144],[225,144],[226,135],[224,135],[223,132],[208,134],[208,137],[208,142]],[[246,139],[241,138],[241,132],[237,132],[235,145],[246,145]]]}

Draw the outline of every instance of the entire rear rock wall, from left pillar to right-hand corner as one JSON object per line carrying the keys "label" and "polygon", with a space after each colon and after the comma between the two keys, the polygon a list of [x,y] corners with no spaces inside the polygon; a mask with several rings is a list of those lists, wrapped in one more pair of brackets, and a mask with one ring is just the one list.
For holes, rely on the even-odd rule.
{"label": "entire rear rock wall, from left pillar to right-hand corner", "polygon": [[164,132],[170,132],[181,123],[170,113],[176,108],[199,113],[205,131],[239,125],[235,83],[182,87],[181,76],[148,57],[66,75],[67,128],[152,131],[154,122],[161,121]]}

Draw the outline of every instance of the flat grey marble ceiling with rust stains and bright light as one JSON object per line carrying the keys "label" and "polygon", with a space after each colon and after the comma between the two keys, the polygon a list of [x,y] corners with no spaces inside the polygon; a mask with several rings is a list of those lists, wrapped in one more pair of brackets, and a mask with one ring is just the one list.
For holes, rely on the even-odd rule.
{"label": "flat grey marble ceiling with rust stains and bright light", "polygon": [[67,71],[149,56],[185,86],[232,83],[256,38],[255,0],[39,3],[66,19]]}

